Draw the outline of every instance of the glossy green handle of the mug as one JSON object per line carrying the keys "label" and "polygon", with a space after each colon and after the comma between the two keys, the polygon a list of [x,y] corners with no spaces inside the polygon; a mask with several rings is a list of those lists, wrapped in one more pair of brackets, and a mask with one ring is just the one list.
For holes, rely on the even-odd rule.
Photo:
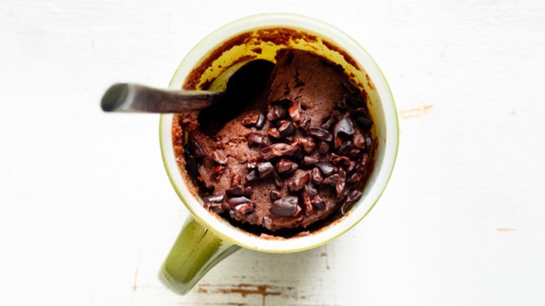
{"label": "glossy green handle of the mug", "polygon": [[159,279],[171,291],[184,295],[208,270],[238,249],[189,216],[159,270]]}

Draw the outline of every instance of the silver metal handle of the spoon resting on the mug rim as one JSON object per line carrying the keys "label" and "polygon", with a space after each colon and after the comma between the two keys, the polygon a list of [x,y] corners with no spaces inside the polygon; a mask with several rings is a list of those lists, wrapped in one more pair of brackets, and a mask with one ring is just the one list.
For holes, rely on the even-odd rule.
{"label": "silver metal handle of the spoon resting on the mug rim", "polygon": [[217,103],[224,92],[164,90],[132,83],[112,85],[101,101],[105,112],[191,112]]}

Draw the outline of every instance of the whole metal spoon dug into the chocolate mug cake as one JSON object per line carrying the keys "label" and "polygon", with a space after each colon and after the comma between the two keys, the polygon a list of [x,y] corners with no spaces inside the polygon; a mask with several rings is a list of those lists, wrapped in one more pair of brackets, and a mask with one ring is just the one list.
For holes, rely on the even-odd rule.
{"label": "whole metal spoon dug into the chocolate mug cake", "polygon": [[268,79],[273,64],[266,59],[252,59],[229,67],[208,90],[157,89],[133,83],[117,83],[104,93],[101,108],[105,112],[191,112],[203,110],[230,96],[256,94],[257,85]]}

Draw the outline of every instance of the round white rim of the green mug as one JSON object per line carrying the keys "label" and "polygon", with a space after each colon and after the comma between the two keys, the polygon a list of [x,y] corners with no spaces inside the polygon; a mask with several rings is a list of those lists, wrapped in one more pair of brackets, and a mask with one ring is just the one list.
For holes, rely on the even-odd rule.
{"label": "round white rim of the green mug", "polygon": [[[375,171],[379,171],[377,179],[371,186],[365,187],[365,189],[370,189],[369,194],[360,198],[357,203],[354,203],[349,214],[342,217],[342,219],[340,219],[341,221],[337,221],[334,224],[327,226],[328,228],[326,229],[321,229],[316,233],[296,238],[284,238],[281,240],[261,238],[252,233],[242,231],[240,228],[229,224],[228,221],[223,218],[211,214],[208,210],[205,210],[203,205],[199,203],[196,197],[189,191],[187,182],[184,180],[184,177],[182,177],[175,159],[172,141],[173,114],[163,114],[159,121],[161,156],[170,183],[173,185],[182,203],[184,203],[191,213],[191,216],[205,226],[205,228],[208,228],[215,233],[219,238],[232,242],[235,245],[245,247],[246,249],[252,249],[259,252],[300,252],[305,249],[312,249],[324,245],[343,233],[346,233],[367,216],[370,210],[375,206],[390,180],[393,173],[393,166],[395,165],[395,159],[398,154],[398,116],[393,101],[393,95],[384,74],[370,54],[357,41],[340,29],[337,29],[330,24],[326,24],[321,20],[295,14],[266,13],[251,15],[216,29],[208,36],[205,36],[205,38],[195,45],[194,48],[188,52],[186,57],[182,59],[173,78],[170,80],[169,88],[180,89],[185,78],[189,75],[189,72],[194,69],[194,66],[218,45],[226,41],[226,39],[244,33],[245,31],[266,27],[289,27],[303,31],[307,30],[311,33],[317,33],[320,36],[323,35],[330,39],[330,41],[333,41],[335,45],[338,45],[343,50],[347,50],[365,70],[365,73],[370,75],[370,79],[377,89],[377,94],[379,94],[381,109],[384,112],[386,138],[384,140],[385,152],[382,166],[379,169],[375,168]],[[362,60],[365,61],[365,63],[363,63]],[[358,210],[354,211],[354,207],[356,207],[356,204],[360,205],[360,202],[364,202],[365,205],[363,205],[363,207],[358,207]]]}

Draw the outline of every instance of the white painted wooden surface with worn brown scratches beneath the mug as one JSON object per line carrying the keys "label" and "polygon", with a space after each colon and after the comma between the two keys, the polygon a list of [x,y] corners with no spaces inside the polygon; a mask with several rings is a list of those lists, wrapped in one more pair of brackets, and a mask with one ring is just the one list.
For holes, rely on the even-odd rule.
{"label": "white painted wooden surface with worn brown scratches beneath the mug", "polygon": [[[187,211],[158,117],[203,36],[263,12],[334,24],[375,57],[398,163],[368,217],[289,255],[242,250],[187,296],[157,270]],[[0,0],[0,305],[544,305],[544,1]]]}

